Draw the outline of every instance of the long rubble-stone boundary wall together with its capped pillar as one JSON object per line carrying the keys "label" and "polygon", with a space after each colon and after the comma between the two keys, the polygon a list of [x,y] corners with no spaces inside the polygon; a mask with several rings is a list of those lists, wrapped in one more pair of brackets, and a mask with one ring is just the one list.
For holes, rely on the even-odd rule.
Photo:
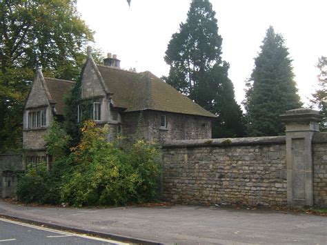
{"label": "long rubble-stone boundary wall together with its capped pillar", "polygon": [[327,133],[315,110],[289,110],[286,136],[169,141],[161,197],[181,204],[327,207]]}

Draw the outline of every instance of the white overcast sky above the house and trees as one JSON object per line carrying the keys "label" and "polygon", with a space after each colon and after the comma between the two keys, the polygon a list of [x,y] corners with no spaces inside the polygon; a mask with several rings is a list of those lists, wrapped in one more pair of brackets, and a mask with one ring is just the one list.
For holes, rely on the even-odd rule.
{"label": "white overcast sky above the house and trees", "polygon": [[[186,21],[191,0],[78,0],[77,9],[90,29],[95,46],[117,54],[121,68],[168,75],[164,61],[168,42]],[[318,57],[327,56],[327,0],[211,0],[223,38],[223,59],[240,104],[245,81],[269,26],[284,36],[293,59],[302,101],[317,85]]]}

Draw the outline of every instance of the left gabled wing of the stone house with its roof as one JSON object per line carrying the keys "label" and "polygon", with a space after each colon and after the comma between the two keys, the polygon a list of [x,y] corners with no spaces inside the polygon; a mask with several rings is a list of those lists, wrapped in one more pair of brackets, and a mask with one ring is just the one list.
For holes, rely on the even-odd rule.
{"label": "left gabled wing of the stone house with its roof", "polygon": [[23,112],[23,163],[50,162],[44,135],[54,118],[63,120],[63,96],[74,83],[43,77],[37,70]]}

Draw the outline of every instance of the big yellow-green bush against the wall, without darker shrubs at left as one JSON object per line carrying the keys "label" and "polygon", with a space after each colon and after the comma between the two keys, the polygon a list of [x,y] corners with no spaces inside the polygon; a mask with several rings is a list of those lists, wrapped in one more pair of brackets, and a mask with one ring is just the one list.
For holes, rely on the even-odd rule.
{"label": "big yellow-green bush against the wall, without darker shrubs at left", "polygon": [[159,164],[154,144],[137,140],[121,148],[107,141],[108,128],[86,121],[80,144],[72,149],[75,169],[66,175],[61,198],[75,206],[123,205],[157,196]]}

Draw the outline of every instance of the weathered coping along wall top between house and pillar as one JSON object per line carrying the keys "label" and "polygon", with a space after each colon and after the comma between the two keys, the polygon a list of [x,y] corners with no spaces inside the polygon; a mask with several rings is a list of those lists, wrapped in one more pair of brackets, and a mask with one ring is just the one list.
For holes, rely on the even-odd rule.
{"label": "weathered coping along wall top between house and pillar", "polygon": [[285,136],[247,137],[223,139],[188,139],[164,142],[163,148],[193,148],[193,147],[226,147],[226,146],[253,146],[286,144]]}

